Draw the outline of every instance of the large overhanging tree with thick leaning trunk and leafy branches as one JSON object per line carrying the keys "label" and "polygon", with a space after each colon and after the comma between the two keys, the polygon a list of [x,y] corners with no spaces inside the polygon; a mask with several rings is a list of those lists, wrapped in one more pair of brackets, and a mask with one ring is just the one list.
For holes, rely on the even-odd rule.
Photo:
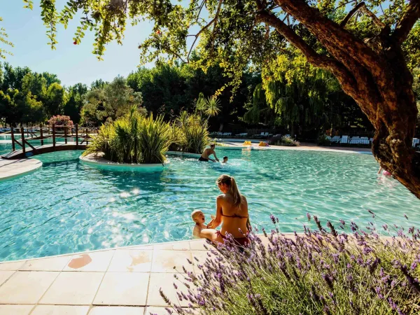
{"label": "large overhanging tree with thick leaning trunk and leafy branches", "polygon": [[[311,64],[336,76],[374,125],[375,158],[420,197],[420,157],[412,149],[417,108],[409,71],[419,62],[413,57],[420,47],[410,45],[407,50],[404,45],[418,41],[420,0],[193,0],[188,7],[170,0],[131,1],[130,6],[125,1],[104,2],[69,2],[56,18],[55,3],[41,0],[52,47],[55,24],[67,25],[83,10],[82,28],[95,29],[94,52],[99,57],[106,43],[121,41],[130,16],[155,22],[153,34],[139,46],[144,61],[166,57],[190,62],[193,47],[187,48],[186,38],[198,26],[201,30],[192,34],[193,46],[200,38],[200,60],[195,64],[204,69],[223,65],[237,87],[244,65],[251,60],[264,67],[288,41]],[[76,34],[76,43],[81,36]]]}

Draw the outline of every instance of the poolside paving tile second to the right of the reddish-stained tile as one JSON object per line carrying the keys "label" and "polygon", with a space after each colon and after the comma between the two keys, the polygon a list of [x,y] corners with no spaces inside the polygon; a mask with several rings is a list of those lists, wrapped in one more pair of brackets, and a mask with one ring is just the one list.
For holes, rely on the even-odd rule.
{"label": "poolside paving tile second to the right of the reddish-stained tile", "polygon": [[183,272],[183,266],[192,272],[193,266],[188,263],[191,260],[190,251],[153,251],[152,272]]}

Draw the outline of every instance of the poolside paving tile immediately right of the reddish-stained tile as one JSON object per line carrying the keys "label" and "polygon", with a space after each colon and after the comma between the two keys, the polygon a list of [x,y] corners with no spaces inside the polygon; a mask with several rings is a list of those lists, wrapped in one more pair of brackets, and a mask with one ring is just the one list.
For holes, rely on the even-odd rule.
{"label": "poolside paving tile immediately right of the reddish-stained tile", "polygon": [[108,272],[150,272],[153,251],[118,249],[113,255]]}

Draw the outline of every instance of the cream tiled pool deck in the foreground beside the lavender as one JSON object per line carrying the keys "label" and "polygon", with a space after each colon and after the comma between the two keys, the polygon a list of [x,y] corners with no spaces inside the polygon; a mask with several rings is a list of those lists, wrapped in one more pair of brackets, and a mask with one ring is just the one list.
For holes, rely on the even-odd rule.
{"label": "cream tiled pool deck in the foreground beside the lavender", "polygon": [[174,274],[181,278],[183,267],[198,272],[187,258],[204,262],[205,243],[195,239],[1,262],[0,314],[167,314],[159,289],[176,301],[173,283],[183,284]]}

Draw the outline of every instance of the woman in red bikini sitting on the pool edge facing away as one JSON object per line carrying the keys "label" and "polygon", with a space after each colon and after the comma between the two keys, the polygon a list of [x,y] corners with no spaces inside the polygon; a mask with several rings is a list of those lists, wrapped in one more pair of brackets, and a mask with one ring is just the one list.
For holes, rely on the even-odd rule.
{"label": "woman in red bikini sitting on the pool edge facing away", "polygon": [[[216,217],[210,221],[207,229],[201,231],[200,237],[223,243],[226,233],[229,233],[237,244],[247,246],[249,221],[246,197],[239,193],[232,176],[221,175],[216,183],[223,194],[216,199]],[[221,224],[221,231],[215,230]]]}

